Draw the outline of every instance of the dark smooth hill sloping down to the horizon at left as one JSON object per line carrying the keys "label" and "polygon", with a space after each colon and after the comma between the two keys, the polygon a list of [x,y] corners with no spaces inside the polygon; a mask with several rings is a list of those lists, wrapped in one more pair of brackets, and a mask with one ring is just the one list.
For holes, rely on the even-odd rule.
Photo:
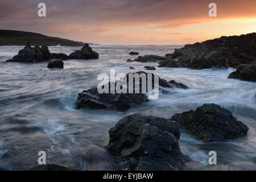
{"label": "dark smooth hill sloping down to the horizon at left", "polygon": [[16,30],[0,30],[0,46],[84,46],[85,43]]}

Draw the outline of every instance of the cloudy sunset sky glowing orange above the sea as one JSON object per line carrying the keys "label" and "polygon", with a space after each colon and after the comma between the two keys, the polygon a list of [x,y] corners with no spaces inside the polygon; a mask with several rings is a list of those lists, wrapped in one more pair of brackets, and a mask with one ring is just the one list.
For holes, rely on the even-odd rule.
{"label": "cloudy sunset sky glowing orange above the sea", "polygon": [[[38,16],[40,2],[46,17]],[[256,32],[256,0],[1,0],[0,29],[98,44],[184,45]]]}

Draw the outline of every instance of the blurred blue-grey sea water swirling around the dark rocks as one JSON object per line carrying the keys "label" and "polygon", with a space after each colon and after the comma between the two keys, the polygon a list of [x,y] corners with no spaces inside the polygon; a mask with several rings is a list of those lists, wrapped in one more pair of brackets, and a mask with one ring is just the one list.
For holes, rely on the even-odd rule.
{"label": "blurred blue-grey sea water swirling around the dark rocks", "polygon": [[[126,63],[130,51],[141,55],[165,55],[181,46],[100,46],[98,60],[64,61],[64,69],[48,69],[38,64],[5,63],[23,47],[0,47],[0,168],[23,170],[38,164],[38,152],[45,151],[47,163],[68,164],[80,170],[117,170],[118,160],[105,150],[108,130],[119,119],[142,113],[171,118],[176,113],[196,109],[204,103],[226,107],[249,126],[245,137],[224,142],[204,143],[181,134],[180,149],[201,165],[200,170],[256,169],[256,83],[228,79],[235,69],[157,68],[157,63]],[[69,54],[77,47],[49,47],[51,52]],[[130,72],[130,66],[152,73],[167,81],[176,80],[190,89],[170,89],[128,111],[76,110],[77,94],[96,86],[100,73]],[[209,151],[217,152],[217,165],[209,166]]]}

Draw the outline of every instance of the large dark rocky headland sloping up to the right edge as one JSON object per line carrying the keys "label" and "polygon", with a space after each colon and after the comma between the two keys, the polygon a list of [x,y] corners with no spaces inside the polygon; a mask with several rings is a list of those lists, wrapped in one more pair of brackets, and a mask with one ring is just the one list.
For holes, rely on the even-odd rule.
{"label": "large dark rocky headland sloping up to the right edge", "polygon": [[[256,33],[240,36],[222,36],[202,43],[187,44],[183,48],[168,53],[168,59],[176,59],[179,64],[191,69],[229,68],[240,64],[250,64],[256,57]],[[173,61],[163,67],[176,65]]]}

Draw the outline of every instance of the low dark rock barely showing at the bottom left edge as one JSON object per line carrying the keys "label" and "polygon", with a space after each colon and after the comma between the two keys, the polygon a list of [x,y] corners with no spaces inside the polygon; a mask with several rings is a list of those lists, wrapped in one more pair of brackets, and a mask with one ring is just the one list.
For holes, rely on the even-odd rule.
{"label": "low dark rock barely showing at the bottom left edge", "polygon": [[45,164],[31,167],[28,171],[77,171],[77,169],[64,164]]}

